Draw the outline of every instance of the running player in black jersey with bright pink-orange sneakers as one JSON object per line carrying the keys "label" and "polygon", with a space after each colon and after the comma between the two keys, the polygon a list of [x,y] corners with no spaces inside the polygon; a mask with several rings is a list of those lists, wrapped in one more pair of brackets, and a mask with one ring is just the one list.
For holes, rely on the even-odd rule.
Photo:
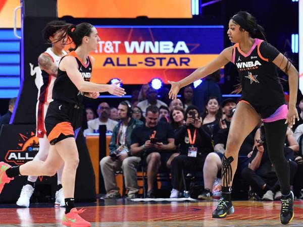
{"label": "running player in black jersey with bright pink-orange sneakers", "polygon": [[54,101],[49,104],[44,121],[47,139],[52,146],[45,161],[29,161],[16,167],[0,162],[0,193],[4,185],[17,176],[54,176],[64,163],[62,186],[66,211],[62,224],[84,227],[90,226],[90,223],[79,216],[83,210],[77,210],[74,204],[75,176],[79,163],[74,130],[82,123],[83,95],[97,98],[99,92],[107,91],[122,96],[125,91],[117,86],[121,81],[112,85],[89,82],[94,59],[88,53],[95,51],[100,41],[96,28],[88,23],[61,27],[64,32],[58,41],[68,35],[75,48],[71,48],[71,52],[61,59],[53,88]]}

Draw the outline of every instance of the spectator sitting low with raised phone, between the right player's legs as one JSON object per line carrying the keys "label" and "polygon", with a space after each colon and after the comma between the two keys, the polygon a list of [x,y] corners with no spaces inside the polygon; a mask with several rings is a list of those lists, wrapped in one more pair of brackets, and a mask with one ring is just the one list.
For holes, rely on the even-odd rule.
{"label": "spectator sitting low with raised phone, between the right player's legs", "polygon": [[[269,159],[264,126],[257,130],[256,142],[257,146],[252,152],[250,163],[242,170],[243,179],[251,186],[253,192],[262,197],[262,200],[280,200],[282,194],[274,166]],[[297,164],[292,161],[291,148],[285,147],[284,155],[289,163],[290,184],[292,184]]]}

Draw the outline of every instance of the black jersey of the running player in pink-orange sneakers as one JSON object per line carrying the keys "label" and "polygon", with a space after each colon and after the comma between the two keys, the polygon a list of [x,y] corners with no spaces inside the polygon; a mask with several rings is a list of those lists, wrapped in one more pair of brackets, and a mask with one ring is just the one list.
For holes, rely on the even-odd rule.
{"label": "black jersey of the running player in pink-orange sneakers", "polygon": [[[79,58],[75,51],[68,53],[66,56],[74,56],[78,63],[78,70],[85,81],[90,81],[92,63],[90,56],[87,56],[86,65]],[[65,56],[63,56],[65,58]],[[62,59],[63,59],[62,58]],[[62,60],[61,59],[61,60]],[[58,76],[54,83],[53,99],[55,101],[63,101],[67,103],[81,105],[84,93],[79,91],[77,87],[68,77],[67,73],[58,69]]]}

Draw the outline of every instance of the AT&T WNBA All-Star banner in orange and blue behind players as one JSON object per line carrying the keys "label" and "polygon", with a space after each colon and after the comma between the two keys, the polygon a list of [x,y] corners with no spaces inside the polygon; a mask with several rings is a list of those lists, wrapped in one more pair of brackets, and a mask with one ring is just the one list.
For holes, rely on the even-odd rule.
{"label": "AT&T WNBA All-Star banner in orange and blue behind players", "polygon": [[184,78],[223,50],[219,26],[95,26],[101,41],[92,53],[92,82],[113,78],[143,84]]}

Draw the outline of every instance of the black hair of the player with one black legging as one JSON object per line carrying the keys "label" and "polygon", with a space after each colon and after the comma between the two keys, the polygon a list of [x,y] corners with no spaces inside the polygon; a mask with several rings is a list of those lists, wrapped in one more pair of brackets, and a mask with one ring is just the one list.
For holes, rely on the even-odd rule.
{"label": "black hair of the player with one black legging", "polygon": [[257,23],[256,18],[250,13],[239,11],[230,19],[240,26],[240,31],[247,31],[251,38],[258,38],[267,41],[264,28]]}

